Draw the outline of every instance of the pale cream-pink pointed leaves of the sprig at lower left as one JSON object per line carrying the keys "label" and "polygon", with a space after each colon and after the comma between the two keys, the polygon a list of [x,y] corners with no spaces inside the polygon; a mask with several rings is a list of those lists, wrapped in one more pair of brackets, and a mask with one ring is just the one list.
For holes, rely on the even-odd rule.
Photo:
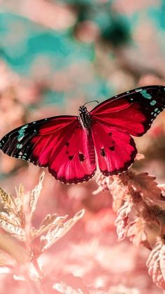
{"label": "pale cream-pink pointed leaves of the sprig at lower left", "polygon": [[[35,228],[32,225],[32,220],[43,186],[43,177],[44,173],[41,175],[36,188],[27,194],[24,193],[23,186],[20,185],[16,197],[3,192],[0,188],[1,204],[3,209],[6,210],[0,212],[1,228],[20,241],[28,241],[29,245],[35,238],[39,237],[38,254],[48,249],[55,241],[64,236],[84,214],[84,210],[81,210],[69,221],[66,221],[68,216],[48,214],[41,221],[39,228]],[[31,251],[31,256],[33,255],[34,253]]]}

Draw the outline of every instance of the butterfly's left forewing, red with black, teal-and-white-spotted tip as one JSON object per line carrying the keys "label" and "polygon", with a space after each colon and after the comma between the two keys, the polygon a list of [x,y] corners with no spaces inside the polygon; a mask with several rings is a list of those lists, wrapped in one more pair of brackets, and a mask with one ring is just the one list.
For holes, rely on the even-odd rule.
{"label": "butterfly's left forewing, red with black, teal-and-white-spotted tip", "polygon": [[[70,127],[70,125],[73,125],[76,121],[76,116],[57,116],[22,125],[6,134],[6,136],[1,139],[0,148],[4,153],[10,156],[29,161],[34,160],[34,164],[36,164],[36,160],[38,160],[41,155],[42,148],[45,147],[43,141],[39,143],[41,135],[44,137],[45,141],[48,141],[48,137],[51,137],[52,133],[60,133],[63,127]],[[39,153],[36,158],[32,152],[34,150],[34,143],[39,147]]]}

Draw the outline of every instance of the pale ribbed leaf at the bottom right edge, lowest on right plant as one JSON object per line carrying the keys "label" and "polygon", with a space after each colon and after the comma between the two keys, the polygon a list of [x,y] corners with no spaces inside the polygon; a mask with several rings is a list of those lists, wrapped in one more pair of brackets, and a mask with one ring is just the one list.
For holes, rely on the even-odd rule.
{"label": "pale ribbed leaf at the bottom right edge, lowest on right plant", "polygon": [[165,290],[165,244],[159,243],[152,250],[146,262],[148,273],[152,276],[153,282]]}

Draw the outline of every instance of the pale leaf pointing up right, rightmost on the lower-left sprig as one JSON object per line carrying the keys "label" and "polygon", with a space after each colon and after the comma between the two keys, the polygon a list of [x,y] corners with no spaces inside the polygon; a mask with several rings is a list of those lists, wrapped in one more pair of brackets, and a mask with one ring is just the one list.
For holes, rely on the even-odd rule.
{"label": "pale leaf pointing up right, rightmost on the lower-left sprig", "polygon": [[[50,248],[52,244],[55,244],[57,240],[62,238],[66,232],[71,230],[73,225],[77,223],[77,221],[82,218],[82,216],[85,214],[85,210],[82,209],[78,211],[78,213],[73,216],[73,218],[70,218],[69,221],[66,221],[65,223],[59,222],[54,230],[49,230],[46,235],[41,236],[41,251],[45,251],[46,249]],[[62,217],[61,217],[62,220]]]}

